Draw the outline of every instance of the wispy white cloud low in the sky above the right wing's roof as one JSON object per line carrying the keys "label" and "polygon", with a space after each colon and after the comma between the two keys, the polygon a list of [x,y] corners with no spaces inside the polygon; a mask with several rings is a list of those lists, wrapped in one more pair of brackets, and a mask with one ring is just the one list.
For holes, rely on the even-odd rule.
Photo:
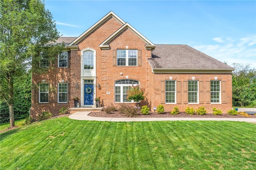
{"label": "wispy white cloud low in the sky above the right wing's roof", "polygon": [[[256,35],[248,35],[240,39],[220,38],[221,43],[213,45],[197,45],[193,48],[210,55],[219,60],[232,63],[251,64],[251,68],[256,68]],[[216,38],[214,38],[216,41]],[[218,42],[218,41],[216,41]]]}

